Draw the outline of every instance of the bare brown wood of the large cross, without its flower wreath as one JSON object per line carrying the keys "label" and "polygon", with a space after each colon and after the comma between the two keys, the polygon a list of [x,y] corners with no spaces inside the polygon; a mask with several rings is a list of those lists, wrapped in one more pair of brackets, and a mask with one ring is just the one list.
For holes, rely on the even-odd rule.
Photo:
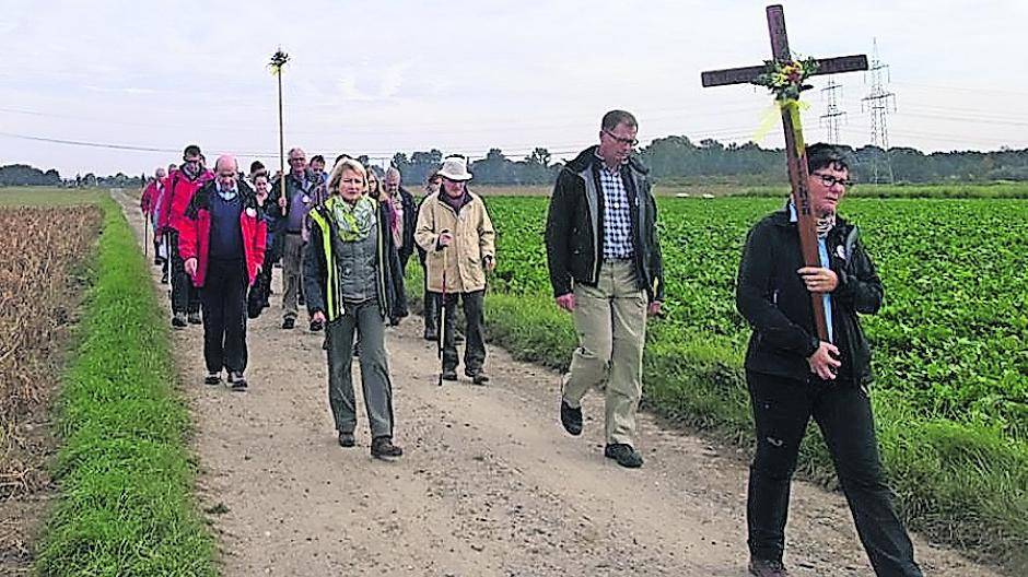
{"label": "bare brown wood of the large cross, without its flower wreath", "polygon": [[[788,50],[788,37],[785,34],[785,12],[780,4],[770,5],[768,12],[768,32],[771,35],[771,54],[776,62],[793,60]],[[853,72],[867,70],[867,56],[843,56],[840,58],[826,58],[817,61],[817,70],[813,74],[836,74],[839,72]],[[724,86],[727,84],[746,84],[757,80],[757,76],[767,71],[767,66],[746,68],[732,68],[726,70],[711,70],[703,72],[700,78],[703,86]],[[788,180],[793,189],[793,204],[796,207],[797,225],[799,227],[799,245],[803,249],[803,260],[807,267],[820,267],[821,259],[817,250],[817,216],[810,207],[810,191],[807,188],[807,155],[803,143],[803,129],[799,126],[799,115],[782,107],[782,125],[785,128],[785,154],[788,160]],[[825,304],[820,293],[810,294],[814,305],[814,321],[817,326],[818,338],[828,341],[828,327],[825,322]]]}

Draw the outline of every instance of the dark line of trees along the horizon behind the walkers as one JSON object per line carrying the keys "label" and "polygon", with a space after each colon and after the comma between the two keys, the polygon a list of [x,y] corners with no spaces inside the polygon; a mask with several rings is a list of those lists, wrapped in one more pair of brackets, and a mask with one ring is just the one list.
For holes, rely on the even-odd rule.
{"label": "dark line of trees along the horizon behind the walkers", "polygon": [[[853,158],[851,172],[861,182],[1028,180],[1028,149],[924,154],[910,148],[893,148],[889,151],[876,146],[855,150],[844,148]],[[710,139],[694,143],[688,137],[665,137],[642,148],[639,156],[657,180],[779,184],[787,179],[783,152],[762,149],[752,142],[725,145]],[[361,160],[367,164],[366,157]],[[413,152],[409,156],[398,152],[393,156],[393,165],[400,169],[407,182],[423,182],[442,162],[443,152],[437,149]],[[492,149],[484,158],[475,160],[470,169],[477,184],[548,185],[553,182],[562,166],[562,163],[553,162],[549,151],[544,148],[535,149],[521,160],[510,158],[500,149]],[[145,176],[129,177],[118,173],[97,177],[90,173],[62,181],[52,168],[44,173],[23,164],[0,166],[0,186],[63,184],[129,188],[142,186],[144,180]]]}

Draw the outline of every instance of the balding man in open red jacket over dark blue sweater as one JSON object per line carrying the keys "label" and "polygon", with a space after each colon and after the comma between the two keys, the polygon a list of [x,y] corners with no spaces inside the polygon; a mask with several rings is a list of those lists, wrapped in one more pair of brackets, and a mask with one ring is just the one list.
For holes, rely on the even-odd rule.
{"label": "balding man in open red jacket over dark blue sweater", "polygon": [[246,290],[265,258],[267,224],[254,191],[238,177],[233,156],[214,163],[179,223],[183,267],[203,303],[203,360],[208,385],[229,373],[232,390],[246,390]]}

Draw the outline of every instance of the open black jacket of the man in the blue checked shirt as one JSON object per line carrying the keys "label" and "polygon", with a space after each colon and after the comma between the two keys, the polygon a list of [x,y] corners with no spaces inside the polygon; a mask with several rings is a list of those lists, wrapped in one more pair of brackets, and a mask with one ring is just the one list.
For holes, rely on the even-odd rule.
{"label": "open black jacket of the man in the blue checked shirt", "polygon": [[[553,296],[572,292],[573,283],[595,286],[604,254],[604,193],[597,146],[582,151],[557,177],[546,220],[546,259]],[[657,205],[647,170],[631,158],[621,167],[632,220],[635,279],[650,301],[664,299],[664,263],[657,235]]]}

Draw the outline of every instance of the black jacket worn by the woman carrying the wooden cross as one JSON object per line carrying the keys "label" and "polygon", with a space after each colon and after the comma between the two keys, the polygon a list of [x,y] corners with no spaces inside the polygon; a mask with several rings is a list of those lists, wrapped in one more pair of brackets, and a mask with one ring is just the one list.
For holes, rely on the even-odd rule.
{"label": "black jacket worn by the woman carrying the wooden cross", "polygon": [[[857,314],[881,307],[883,287],[856,226],[837,219],[827,248],[839,286],[831,293],[832,335],[842,357],[839,380],[872,380],[871,349]],[[736,307],[754,327],[746,368],[806,381],[807,357],[819,340],[814,328],[810,293],[796,270],[804,267],[799,231],[786,210],[766,216],[750,229],[739,262]]]}

